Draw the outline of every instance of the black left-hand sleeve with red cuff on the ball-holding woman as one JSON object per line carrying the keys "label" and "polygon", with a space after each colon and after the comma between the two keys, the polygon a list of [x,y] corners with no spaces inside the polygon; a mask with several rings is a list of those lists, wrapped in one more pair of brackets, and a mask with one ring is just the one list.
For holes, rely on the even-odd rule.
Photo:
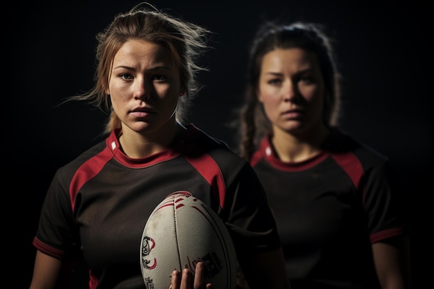
{"label": "black left-hand sleeve with red cuff on the ball-holding woman", "polygon": [[78,240],[69,198],[69,182],[60,169],[55,173],[44,198],[33,245],[49,256],[64,259],[78,252]]}

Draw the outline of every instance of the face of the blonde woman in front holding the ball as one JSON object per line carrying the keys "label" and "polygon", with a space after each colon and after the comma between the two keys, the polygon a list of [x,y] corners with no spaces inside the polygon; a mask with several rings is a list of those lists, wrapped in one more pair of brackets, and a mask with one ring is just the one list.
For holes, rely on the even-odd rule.
{"label": "face of the blonde woman in front holding the ball", "polygon": [[179,69],[164,46],[128,40],[114,55],[107,94],[123,130],[151,133],[175,122],[184,94]]}

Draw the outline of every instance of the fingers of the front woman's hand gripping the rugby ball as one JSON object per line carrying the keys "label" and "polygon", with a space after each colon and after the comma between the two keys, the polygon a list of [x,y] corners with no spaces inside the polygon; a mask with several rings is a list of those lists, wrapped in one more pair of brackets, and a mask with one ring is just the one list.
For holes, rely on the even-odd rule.
{"label": "fingers of the front woman's hand gripping the rugby ball", "polygon": [[211,283],[207,283],[205,286],[205,268],[202,262],[196,264],[195,270],[196,274],[194,274],[194,280],[191,280],[193,273],[188,268],[185,268],[182,272],[177,270],[173,271],[169,289],[213,289]]}

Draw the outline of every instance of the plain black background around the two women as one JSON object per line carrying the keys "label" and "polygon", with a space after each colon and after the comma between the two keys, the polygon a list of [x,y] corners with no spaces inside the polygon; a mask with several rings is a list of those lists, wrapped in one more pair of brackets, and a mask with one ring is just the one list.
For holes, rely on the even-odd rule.
{"label": "plain black background around the two women", "polygon": [[[7,272],[20,276],[13,279],[15,288],[26,288],[31,280],[31,242],[51,177],[98,140],[106,117],[84,103],[56,105],[92,87],[96,33],[135,3],[16,2],[8,4],[14,8],[3,8],[3,230],[8,229],[3,244],[12,248]],[[434,50],[428,3],[151,3],[214,32],[214,49],[203,58],[210,71],[200,75],[206,86],[196,98],[191,121],[230,146],[235,142],[227,124],[242,101],[248,44],[259,22],[285,16],[326,26],[343,76],[341,126],[388,156],[399,173],[403,209],[413,226],[414,288],[424,284],[433,268],[427,259],[433,228],[428,205],[434,192]]]}

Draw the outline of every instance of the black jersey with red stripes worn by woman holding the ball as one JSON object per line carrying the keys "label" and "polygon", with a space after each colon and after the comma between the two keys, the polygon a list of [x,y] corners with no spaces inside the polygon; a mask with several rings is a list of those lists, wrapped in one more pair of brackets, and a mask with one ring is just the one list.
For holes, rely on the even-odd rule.
{"label": "black jersey with red stripes worn by woman holding the ball", "polygon": [[120,134],[55,173],[33,240],[57,259],[83,254],[90,289],[145,288],[141,234],[155,206],[175,191],[189,191],[216,211],[240,263],[245,254],[281,245],[257,175],[225,143],[188,125],[173,148],[132,159],[120,149]]}

